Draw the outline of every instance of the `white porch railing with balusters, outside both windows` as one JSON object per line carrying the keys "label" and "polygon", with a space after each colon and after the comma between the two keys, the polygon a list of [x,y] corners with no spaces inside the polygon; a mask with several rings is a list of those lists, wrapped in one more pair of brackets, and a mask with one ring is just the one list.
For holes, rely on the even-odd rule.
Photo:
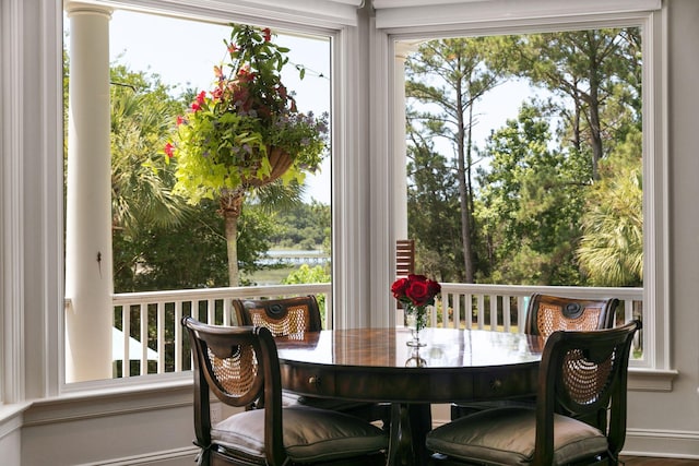
{"label": "white porch railing with balusters, outside both windows", "polygon": [[[431,326],[497,328],[522,332],[526,299],[533,292],[585,297],[615,297],[617,324],[642,319],[642,288],[579,288],[552,286],[510,286],[441,284],[441,297],[430,310]],[[115,378],[149,373],[180,372],[190,369],[190,349],[182,338],[180,320],[192,315],[201,322],[235,324],[232,299],[281,298],[313,294],[323,308],[323,327],[332,327],[330,284],[280,285],[263,287],[182,289],[129,292],[114,296],[115,326],[123,332],[115,351]],[[388,292],[388,291],[387,291]],[[402,321],[399,314],[398,322]],[[133,348],[139,350],[133,354]],[[639,347],[642,343],[639,340]],[[155,355],[153,354],[155,351]],[[129,361],[125,365],[125,361]],[[129,370],[122,368],[128,366]]]}

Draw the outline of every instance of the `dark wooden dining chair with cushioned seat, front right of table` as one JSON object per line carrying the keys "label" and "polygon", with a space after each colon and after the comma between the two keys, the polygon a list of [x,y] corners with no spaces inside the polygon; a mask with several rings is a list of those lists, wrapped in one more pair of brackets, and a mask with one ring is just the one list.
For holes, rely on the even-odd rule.
{"label": "dark wooden dining chair with cushioned seat, front right of table", "polygon": [[627,374],[640,321],[556,331],[546,340],[535,407],[502,407],[431,430],[435,465],[618,464],[626,439]]}

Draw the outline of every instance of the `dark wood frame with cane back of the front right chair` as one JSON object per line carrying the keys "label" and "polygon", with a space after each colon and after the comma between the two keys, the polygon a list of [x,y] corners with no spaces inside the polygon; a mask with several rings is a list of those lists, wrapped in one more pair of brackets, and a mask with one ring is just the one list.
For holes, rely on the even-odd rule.
{"label": "dark wood frame with cane back of the front right chair", "polygon": [[[616,328],[550,334],[542,355],[538,377],[532,465],[554,464],[554,414],[582,420],[607,438],[606,452],[576,465],[618,464],[626,440],[629,356],[633,335],[640,328],[641,322],[632,321]],[[604,367],[604,370],[596,370],[591,380],[591,367]],[[466,417],[462,421],[467,420]],[[435,455],[434,461],[438,465],[470,464],[440,455]]]}

